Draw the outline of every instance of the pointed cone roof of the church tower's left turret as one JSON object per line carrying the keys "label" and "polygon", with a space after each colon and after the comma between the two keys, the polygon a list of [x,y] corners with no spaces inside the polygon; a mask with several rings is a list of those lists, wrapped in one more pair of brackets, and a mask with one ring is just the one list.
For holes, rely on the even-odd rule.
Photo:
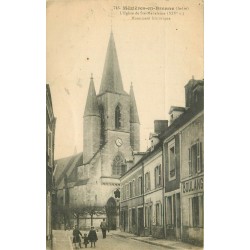
{"label": "pointed cone roof of the church tower's left turret", "polygon": [[95,92],[95,85],[93,81],[93,75],[91,74],[89,91],[87,96],[87,101],[84,110],[84,116],[100,116],[98,102]]}

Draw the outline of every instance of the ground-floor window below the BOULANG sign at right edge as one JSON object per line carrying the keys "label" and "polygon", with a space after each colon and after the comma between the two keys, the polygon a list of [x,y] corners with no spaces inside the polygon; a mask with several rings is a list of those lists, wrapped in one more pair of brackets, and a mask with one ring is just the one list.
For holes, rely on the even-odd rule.
{"label": "ground-floor window below the BOULANG sign at right edge", "polygon": [[193,227],[203,227],[203,195],[191,198]]}

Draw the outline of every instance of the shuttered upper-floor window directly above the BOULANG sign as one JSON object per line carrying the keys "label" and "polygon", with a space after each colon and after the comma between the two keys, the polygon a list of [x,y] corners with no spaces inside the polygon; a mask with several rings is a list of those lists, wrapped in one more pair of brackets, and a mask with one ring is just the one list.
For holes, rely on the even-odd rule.
{"label": "shuttered upper-floor window directly above the BOULANG sign", "polygon": [[201,142],[196,142],[188,149],[189,174],[194,175],[202,171]]}

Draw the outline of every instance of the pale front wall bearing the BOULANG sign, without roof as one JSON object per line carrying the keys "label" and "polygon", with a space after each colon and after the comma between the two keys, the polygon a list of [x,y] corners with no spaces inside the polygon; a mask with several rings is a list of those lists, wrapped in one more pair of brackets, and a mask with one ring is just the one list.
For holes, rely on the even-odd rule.
{"label": "pale front wall bearing the BOULANG sign, without roof", "polygon": [[182,238],[203,244],[204,233],[204,115],[198,114],[182,130]]}

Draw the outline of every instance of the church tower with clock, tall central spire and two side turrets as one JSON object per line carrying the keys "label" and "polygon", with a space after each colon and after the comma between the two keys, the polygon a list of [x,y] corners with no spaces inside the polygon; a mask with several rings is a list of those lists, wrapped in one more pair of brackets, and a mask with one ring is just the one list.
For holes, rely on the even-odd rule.
{"label": "church tower with clock, tall central spire and two side turrets", "polygon": [[[101,79],[96,95],[91,78],[84,112],[84,162],[100,154],[101,183],[116,182],[139,150],[140,124],[133,87],[123,89],[118,56],[111,31]],[[116,179],[116,180],[115,180]]]}

